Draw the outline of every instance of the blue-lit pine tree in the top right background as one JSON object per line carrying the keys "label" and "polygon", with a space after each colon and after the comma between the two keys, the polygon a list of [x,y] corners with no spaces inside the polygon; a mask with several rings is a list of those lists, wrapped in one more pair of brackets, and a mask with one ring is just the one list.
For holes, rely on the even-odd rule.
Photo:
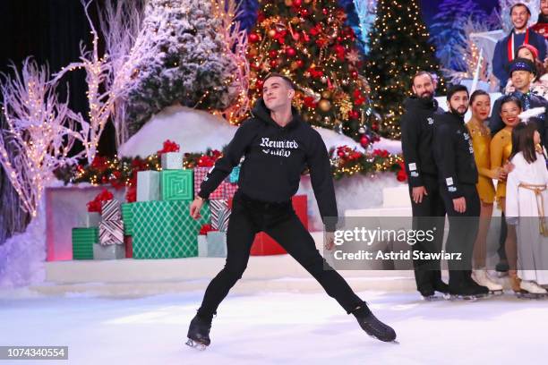
{"label": "blue-lit pine tree in the top right background", "polygon": [[467,64],[458,50],[466,47],[464,26],[468,20],[486,21],[488,15],[473,0],[444,0],[430,27],[436,56],[442,68],[466,71]]}

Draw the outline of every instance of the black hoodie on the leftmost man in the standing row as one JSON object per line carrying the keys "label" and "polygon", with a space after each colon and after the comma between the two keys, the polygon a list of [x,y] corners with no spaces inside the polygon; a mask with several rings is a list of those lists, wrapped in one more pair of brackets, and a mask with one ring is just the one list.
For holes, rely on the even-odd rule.
{"label": "black hoodie on the leftmost man in the standing row", "polygon": [[423,175],[434,179],[438,171],[433,161],[433,115],[442,113],[434,98],[407,98],[406,113],[402,115],[401,149],[406,163],[409,186],[424,186]]}

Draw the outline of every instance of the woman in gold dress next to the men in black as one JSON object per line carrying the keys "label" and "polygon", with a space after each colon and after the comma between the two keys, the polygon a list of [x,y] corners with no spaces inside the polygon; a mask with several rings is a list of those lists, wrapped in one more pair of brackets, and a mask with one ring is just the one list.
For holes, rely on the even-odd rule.
{"label": "woman in gold dress next to the men in black", "polygon": [[506,173],[502,168],[491,170],[489,147],[491,144],[491,131],[485,125],[485,121],[491,113],[491,98],[484,90],[475,90],[470,96],[472,118],[467,123],[467,129],[472,138],[474,148],[475,166],[477,166],[478,178],[477,193],[481,201],[480,225],[474,243],[474,271],[472,278],[477,284],[486,286],[492,293],[500,293],[502,285],[492,281],[485,268],[485,256],[487,252],[487,233],[491,224],[492,203],[495,197],[492,179],[502,180]]}

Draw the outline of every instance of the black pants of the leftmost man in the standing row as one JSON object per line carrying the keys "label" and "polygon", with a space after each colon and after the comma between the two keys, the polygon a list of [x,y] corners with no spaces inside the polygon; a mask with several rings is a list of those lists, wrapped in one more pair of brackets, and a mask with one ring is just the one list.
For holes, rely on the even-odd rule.
{"label": "black pants of the leftmost man in the standing row", "polygon": [[[413,188],[409,187],[411,207],[413,209],[414,230],[434,230],[432,242],[417,242],[413,250],[423,252],[440,252],[443,244],[443,229],[445,227],[445,206],[440,195],[440,186],[435,176],[423,175],[424,188],[428,195],[423,196],[423,201],[413,201]],[[431,293],[434,284],[441,281],[441,266],[439,259],[413,260],[415,267],[416,289],[420,293]]]}

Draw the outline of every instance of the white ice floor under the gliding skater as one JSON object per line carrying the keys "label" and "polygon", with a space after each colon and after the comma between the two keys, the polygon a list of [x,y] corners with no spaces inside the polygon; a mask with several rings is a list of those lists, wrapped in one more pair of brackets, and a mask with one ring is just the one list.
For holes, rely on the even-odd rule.
{"label": "white ice floor under the gliding skater", "polygon": [[426,302],[417,293],[359,293],[395,328],[399,344],[386,344],[325,293],[229,294],[213,319],[210,347],[199,352],[184,341],[201,295],[0,297],[0,344],[69,346],[69,361],[50,362],[79,365],[545,362],[546,300]]}

